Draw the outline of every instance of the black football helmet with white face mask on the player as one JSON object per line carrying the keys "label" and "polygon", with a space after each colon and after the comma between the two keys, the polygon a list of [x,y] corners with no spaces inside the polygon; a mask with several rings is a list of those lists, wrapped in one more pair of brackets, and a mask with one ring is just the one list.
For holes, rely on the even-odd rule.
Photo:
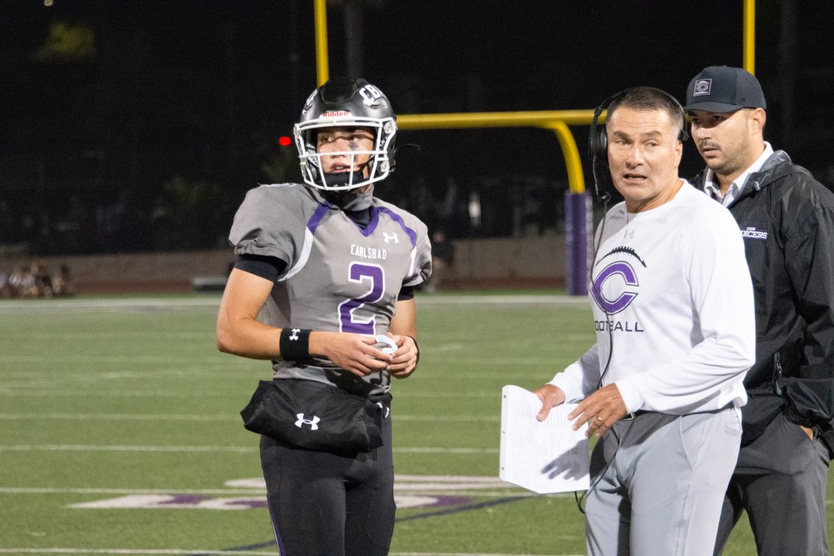
{"label": "black football helmet with white face mask on the player", "polygon": [[[318,153],[317,132],[324,128],[369,128],[374,134],[372,150],[349,150]],[[361,78],[333,78],[307,98],[299,123],[293,129],[295,146],[304,183],[326,191],[345,191],[379,182],[394,170],[394,136],[397,122],[388,98],[378,88]],[[367,163],[355,168],[356,155],[370,156]],[[344,155],[349,159],[348,172],[324,173],[323,156]],[[368,176],[363,170],[367,168]]]}

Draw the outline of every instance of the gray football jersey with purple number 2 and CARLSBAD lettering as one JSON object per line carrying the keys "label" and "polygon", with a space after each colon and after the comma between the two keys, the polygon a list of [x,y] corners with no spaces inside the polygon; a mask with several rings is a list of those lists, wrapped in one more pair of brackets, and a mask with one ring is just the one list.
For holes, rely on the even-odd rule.
{"label": "gray football jersey with purple number 2 and CARLSBAD lettering", "polygon": [[[359,228],[313,188],[298,183],[262,185],[247,193],[234,216],[229,242],[238,254],[287,262],[264,303],[264,323],[384,334],[403,286],[425,282],[431,245],[425,224],[378,198],[371,221]],[[339,384],[355,379],[325,359],[273,361],[275,378],[307,378]],[[387,373],[365,377],[389,383]]]}

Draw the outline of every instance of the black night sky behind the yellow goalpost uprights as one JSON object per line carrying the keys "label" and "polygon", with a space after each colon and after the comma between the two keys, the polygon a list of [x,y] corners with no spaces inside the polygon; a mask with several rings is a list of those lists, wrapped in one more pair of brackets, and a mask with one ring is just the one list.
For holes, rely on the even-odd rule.
{"label": "black night sky behind the yellow goalpost uprights", "polygon": [[[81,192],[83,204],[107,205],[127,192],[141,220],[179,176],[221,186],[225,227],[245,191],[268,179],[261,166],[281,158],[275,139],[315,86],[312,0],[53,3],[15,0],[0,21],[0,200],[39,203],[54,219],[57,198]],[[332,76],[348,71],[343,4],[329,3]],[[362,4],[352,29],[364,77],[398,113],[594,108],[636,85],[682,98],[706,65],[742,63],[741,0]],[[831,21],[826,0],[757,6],[766,138],[824,181],[834,163]],[[94,54],[44,50],[56,23],[92,29]],[[573,131],[584,154],[587,128]],[[450,177],[464,190],[565,181],[555,138],[541,130],[402,132],[399,143],[421,148],[399,157],[383,193],[412,207],[427,207],[414,183],[437,200]],[[686,151],[684,175],[700,166],[691,143]]]}

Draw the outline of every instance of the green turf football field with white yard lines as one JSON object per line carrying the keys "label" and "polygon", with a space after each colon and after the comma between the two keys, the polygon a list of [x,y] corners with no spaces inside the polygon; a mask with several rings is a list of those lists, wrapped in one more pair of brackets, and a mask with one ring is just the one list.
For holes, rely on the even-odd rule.
{"label": "green turf football field with white yard lines", "polygon": [[[218,303],[0,302],[0,554],[277,554],[238,414],[269,363],[216,350]],[[590,346],[585,301],[418,306],[420,368],[393,390],[391,553],[584,554],[573,495],[497,474],[501,387],[535,388]],[[755,553],[743,521],[726,554]]]}

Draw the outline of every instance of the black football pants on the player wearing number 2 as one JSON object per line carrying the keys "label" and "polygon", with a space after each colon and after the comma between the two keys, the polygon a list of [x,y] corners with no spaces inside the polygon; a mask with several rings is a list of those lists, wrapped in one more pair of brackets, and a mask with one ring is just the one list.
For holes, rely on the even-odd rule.
{"label": "black football pants on the player wearing number 2", "polygon": [[281,556],[385,556],[394,534],[391,419],[383,445],[344,457],[261,437],[261,467]]}

